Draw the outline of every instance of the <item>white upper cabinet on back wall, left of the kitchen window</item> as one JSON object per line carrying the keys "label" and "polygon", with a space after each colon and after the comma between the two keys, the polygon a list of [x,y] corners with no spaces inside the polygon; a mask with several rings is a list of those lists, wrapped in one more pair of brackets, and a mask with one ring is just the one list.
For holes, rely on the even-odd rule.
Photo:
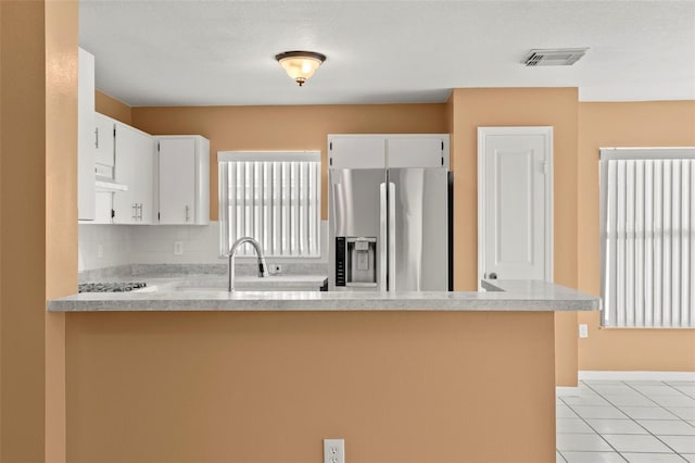
{"label": "white upper cabinet on back wall, left of the kitchen window", "polygon": [[154,138],[159,161],[159,223],[207,225],[210,141],[197,135]]}

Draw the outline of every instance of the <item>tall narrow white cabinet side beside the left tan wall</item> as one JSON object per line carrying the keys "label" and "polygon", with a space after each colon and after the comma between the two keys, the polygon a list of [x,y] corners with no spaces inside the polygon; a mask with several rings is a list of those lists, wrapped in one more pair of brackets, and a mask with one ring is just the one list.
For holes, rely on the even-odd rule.
{"label": "tall narrow white cabinet side beside the left tan wall", "polygon": [[94,220],[94,57],[77,54],[77,218]]}

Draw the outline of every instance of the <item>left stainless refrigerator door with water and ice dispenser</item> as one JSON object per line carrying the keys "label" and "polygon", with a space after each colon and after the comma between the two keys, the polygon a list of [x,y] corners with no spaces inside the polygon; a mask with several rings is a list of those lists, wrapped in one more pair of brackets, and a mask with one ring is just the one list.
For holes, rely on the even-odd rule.
{"label": "left stainless refrigerator door with water and ice dispenser", "polygon": [[[329,176],[329,287],[331,290],[386,290],[386,171],[383,168],[351,170],[330,168]],[[383,211],[383,212],[382,212]],[[337,238],[344,240],[340,243]],[[350,281],[351,255],[345,264],[338,262],[337,252],[350,253],[351,243],[355,243],[354,256],[364,255],[359,246],[375,239],[374,262],[376,265],[376,285]],[[371,249],[369,249],[371,251]],[[371,259],[371,258],[370,258]],[[365,261],[366,262],[366,261]],[[361,265],[365,262],[361,262]],[[371,261],[370,261],[371,262]],[[368,264],[371,265],[371,264]],[[345,267],[346,266],[346,267]],[[354,262],[353,262],[354,266]],[[355,267],[356,268],[356,267]],[[337,285],[346,276],[344,284]],[[362,272],[362,270],[361,270]]]}

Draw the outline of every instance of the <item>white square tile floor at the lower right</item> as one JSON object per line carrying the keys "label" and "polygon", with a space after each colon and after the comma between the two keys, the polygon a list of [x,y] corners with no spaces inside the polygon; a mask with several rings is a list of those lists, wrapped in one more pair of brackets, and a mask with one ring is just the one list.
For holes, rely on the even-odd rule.
{"label": "white square tile floor at the lower right", "polygon": [[582,380],[556,416],[557,463],[695,463],[695,381]]}

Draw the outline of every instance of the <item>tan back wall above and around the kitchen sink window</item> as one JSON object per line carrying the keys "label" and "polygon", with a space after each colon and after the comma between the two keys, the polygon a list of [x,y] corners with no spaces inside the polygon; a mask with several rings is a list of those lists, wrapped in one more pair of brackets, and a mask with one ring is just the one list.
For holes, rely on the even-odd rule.
{"label": "tan back wall above and around the kitchen sink window", "polygon": [[152,135],[210,139],[210,215],[217,220],[217,151],[320,150],[321,216],[328,208],[328,134],[446,133],[443,104],[134,108],[132,125]]}

